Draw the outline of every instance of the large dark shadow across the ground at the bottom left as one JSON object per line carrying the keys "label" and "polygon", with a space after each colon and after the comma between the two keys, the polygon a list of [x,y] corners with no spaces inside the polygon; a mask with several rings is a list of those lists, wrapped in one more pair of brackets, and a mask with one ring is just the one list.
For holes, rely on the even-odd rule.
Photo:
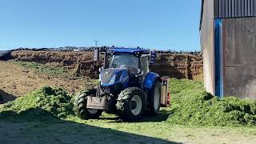
{"label": "large dark shadow across the ground at the bottom left", "polygon": [[0,143],[178,143],[63,121],[41,108],[0,113]]}

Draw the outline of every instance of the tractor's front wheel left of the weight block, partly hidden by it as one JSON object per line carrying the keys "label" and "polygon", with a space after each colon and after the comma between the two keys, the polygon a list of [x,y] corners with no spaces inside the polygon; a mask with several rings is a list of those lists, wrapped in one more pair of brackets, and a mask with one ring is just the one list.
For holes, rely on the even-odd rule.
{"label": "tractor's front wheel left of the weight block, partly hidden by it", "polygon": [[87,109],[87,97],[94,97],[96,90],[82,90],[80,94],[74,98],[74,113],[82,119],[99,118],[102,115],[102,110]]}

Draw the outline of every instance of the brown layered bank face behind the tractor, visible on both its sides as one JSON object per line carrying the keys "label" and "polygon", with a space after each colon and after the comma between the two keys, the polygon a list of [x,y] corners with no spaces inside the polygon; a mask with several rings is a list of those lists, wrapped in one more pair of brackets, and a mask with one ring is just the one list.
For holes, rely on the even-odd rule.
{"label": "brown layered bank face behind the tractor, visible on both its sides", "polygon": [[[74,70],[74,74],[77,76],[97,78],[99,66],[92,61],[93,55],[94,52],[92,51],[17,50],[11,52],[10,59],[64,66]],[[102,58],[100,63],[102,63]],[[156,63],[152,66],[152,71],[171,78],[202,80],[202,67],[202,56],[198,54],[158,54]]]}

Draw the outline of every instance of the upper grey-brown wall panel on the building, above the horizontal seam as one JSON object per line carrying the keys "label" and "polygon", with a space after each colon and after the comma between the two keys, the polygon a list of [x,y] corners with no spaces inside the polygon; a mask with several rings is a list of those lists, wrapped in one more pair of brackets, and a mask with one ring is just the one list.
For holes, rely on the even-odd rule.
{"label": "upper grey-brown wall panel on the building, above the horizontal seam", "polygon": [[256,66],[256,18],[229,18],[222,22],[226,66]]}

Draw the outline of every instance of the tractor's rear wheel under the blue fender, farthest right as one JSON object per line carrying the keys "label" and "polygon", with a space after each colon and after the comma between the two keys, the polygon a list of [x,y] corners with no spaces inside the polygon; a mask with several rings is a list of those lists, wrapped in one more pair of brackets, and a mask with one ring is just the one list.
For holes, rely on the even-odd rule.
{"label": "tractor's rear wheel under the blue fender, farthest right", "polygon": [[154,83],[153,89],[149,91],[148,98],[149,99],[149,114],[159,114],[160,105],[161,105],[161,94],[162,88],[161,83],[159,81]]}

